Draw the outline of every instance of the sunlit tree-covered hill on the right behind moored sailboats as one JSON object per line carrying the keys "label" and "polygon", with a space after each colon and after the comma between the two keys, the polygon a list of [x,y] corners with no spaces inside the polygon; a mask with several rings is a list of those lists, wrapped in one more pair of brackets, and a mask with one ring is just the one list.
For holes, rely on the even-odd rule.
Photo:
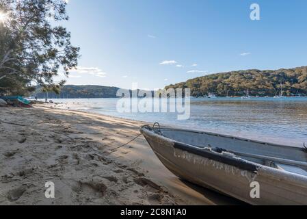
{"label": "sunlit tree-covered hill on the right behind moored sailboats", "polygon": [[165,88],[190,88],[192,96],[274,96],[282,83],[283,95],[307,96],[307,66],[279,70],[238,70],[189,79]]}

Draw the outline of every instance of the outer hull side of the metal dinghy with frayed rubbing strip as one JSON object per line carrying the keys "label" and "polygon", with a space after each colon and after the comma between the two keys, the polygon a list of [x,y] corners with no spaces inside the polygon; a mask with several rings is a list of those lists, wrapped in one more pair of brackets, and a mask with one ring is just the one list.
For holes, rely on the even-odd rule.
{"label": "outer hull side of the metal dinghy with frayed rubbing strip", "polygon": [[146,128],[141,132],[163,165],[181,179],[252,205],[307,205],[307,177],[285,174],[252,162],[238,164]]}

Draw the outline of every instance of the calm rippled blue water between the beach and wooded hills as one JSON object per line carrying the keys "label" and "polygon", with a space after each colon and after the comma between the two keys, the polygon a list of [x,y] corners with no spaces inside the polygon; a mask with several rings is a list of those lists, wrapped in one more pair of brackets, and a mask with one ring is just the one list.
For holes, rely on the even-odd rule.
{"label": "calm rippled blue water between the beach and wooded hills", "polygon": [[226,133],[293,146],[307,143],[307,98],[191,99],[189,120],[174,113],[118,113],[118,99],[54,99],[59,107],[95,112],[148,123]]}

